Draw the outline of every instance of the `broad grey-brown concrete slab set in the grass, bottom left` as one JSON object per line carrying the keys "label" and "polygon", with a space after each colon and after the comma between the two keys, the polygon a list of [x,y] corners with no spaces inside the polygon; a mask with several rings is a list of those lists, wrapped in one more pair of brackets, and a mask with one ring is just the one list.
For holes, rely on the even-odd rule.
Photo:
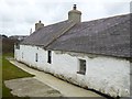
{"label": "broad grey-brown concrete slab set in the grass, bottom left", "polygon": [[18,97],[63,97],[59,91],[33,77],[6,80],[4,84]]}

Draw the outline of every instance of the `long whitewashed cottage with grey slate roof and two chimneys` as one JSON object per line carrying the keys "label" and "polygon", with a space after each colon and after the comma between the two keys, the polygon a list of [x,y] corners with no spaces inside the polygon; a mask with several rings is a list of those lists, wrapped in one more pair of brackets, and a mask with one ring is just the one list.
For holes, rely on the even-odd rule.
{"label": "long whitewashed cottage with grey slate roof and two chimneys", "polygon": [[130,96],[130,14],[81,22],[76,4],[68,20],[46,25],[15,45],[16,61],[111,97]]}

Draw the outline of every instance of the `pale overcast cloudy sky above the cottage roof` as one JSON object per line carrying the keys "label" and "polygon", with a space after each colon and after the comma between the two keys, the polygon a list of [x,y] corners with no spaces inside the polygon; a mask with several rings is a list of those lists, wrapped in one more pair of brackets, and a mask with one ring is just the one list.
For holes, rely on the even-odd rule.
{"label": "pale overcast cloudy sky above the cottage roof", "polygon": [[73,4],[81,21],[130,13],[131,0],[0,0],[0,34],[30,35],[40,20],[44,25],[68,19]]}

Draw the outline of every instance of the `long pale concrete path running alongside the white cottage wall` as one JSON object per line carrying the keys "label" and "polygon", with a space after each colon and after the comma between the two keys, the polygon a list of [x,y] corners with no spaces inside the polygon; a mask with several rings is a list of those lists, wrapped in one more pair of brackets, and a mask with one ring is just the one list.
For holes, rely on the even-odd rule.
{"label": "long pale concrete path running alongside the white cottage wall", "polygon": [[61,80],[50,74],[45,74],[44,72],[32,69],[24,64],[18,63],[16,61],[10,61],[10,63],[14,64],[19,68],[21,68],[32,75],[35,75],[35,77],[34,77],[35,79],[58,90],[65,97],[100,97],[101,99],[105,99],[102,96],[100,96],[96,92],[74,86],[74,85],[66,82],[64,80]]}

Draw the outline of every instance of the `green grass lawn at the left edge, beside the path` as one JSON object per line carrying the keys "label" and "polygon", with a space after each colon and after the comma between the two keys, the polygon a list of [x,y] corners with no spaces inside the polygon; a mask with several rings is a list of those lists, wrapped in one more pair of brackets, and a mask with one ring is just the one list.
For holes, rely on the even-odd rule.
{"label": "green grass lawn at the left edge, beside the path", "polygon": [[33,75],[25,73],[24,70],[9,63],[9,61],[6,59],[6,57],[9,55],[12,56],[12,54],[6,54],[2,57],[2,97],[3,98],[12,97],[14,99],[14,96],[12,96],[10,92],[11,90],[6,87],[4,80],[23,78],[23,77],[33,77]]}

